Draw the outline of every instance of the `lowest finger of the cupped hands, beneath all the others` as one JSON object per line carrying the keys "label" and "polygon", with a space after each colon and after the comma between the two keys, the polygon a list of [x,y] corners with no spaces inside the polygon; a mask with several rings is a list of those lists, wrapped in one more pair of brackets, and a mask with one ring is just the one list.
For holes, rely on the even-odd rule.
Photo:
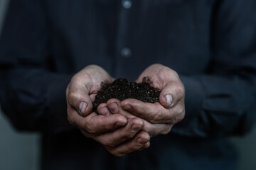
{"label": "lowest finger of the cupped hands, beneath all the others", "polygon": [[132,140],[123,142],[116,147],[106,147],[107,150],[116,157],[121,157],[123,154],[128,154],[137,150],[142,150],[150,146],[149,134],[141,131]]}

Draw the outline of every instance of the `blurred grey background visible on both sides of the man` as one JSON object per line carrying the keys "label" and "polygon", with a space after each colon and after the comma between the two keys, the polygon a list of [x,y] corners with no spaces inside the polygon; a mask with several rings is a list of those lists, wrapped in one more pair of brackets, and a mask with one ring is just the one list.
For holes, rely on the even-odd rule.
{"label": "blurred grey background visible on both sides of the man", "polygon": [[[9,0],[0,0],[0,33]],[[240,159],[238,170],[256,169],[256,128],[245,137],[232,137]],[[0,169],[38,170],[40,164],[40,135],[16,132],[0,108]]]}

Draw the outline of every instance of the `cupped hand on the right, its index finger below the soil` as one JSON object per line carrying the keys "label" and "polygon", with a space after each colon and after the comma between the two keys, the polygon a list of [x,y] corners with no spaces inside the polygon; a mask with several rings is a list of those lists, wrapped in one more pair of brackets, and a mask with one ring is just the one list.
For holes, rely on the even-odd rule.
{"label": "cupped hand on the right, its index finger below the soil", "polygon": [[161,90],[159,103],[144,103],[128,98],[121,102],[121,107],[132,115],[146,120],[151,125],[159,125],[155,126],[154,135],[157,135],[158,132],[159,135],[166,134],[173,125],[184,118],[184,86],[173,69],[161,64],[153,64],[146,68],[137,82],[142,82],[144,77],[149,77],[151,85]]}

